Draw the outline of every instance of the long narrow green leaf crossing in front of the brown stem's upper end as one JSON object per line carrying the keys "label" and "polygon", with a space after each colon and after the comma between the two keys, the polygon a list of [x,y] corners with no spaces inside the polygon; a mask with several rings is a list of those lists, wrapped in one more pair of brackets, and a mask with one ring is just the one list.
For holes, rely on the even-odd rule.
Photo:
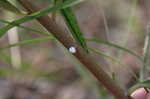
{"label": "long narrow green leaf crossing in front of the brown stem's upper end", "polygon": [[15,21],[11,22],[10,24],[0,28],[0,37],[2,37],[9,29],[11,29],[17,25],[20,25],[22,23],[25,23],[25,22],[31,21],[33,19],[39,18],[39,17],[41,17],[45,14],[48,14],[50,12],[57,11],[57,10],[75,5],[79,2],[79,1],[78,2],[77,1],[76,0],[67,0],[66,2],[62,3],[60,6],[48,8],[48,9],[42,10],[42,11],[38,11],[38,12],[35,12],[33,14],[27,15],[23,18],[20,18],[18,20],[15,20]]}

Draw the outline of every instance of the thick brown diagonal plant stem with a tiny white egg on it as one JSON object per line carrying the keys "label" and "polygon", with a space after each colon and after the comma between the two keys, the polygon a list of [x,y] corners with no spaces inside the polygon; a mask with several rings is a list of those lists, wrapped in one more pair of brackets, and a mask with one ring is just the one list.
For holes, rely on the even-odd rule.
{"label": "thick brown diagonal plant stem with a tiny white egg on it", "polygon": [[[23,5],[29,13],[39,11],[40,9],[31,4],[28,0],[19,0],[20,4]],[[37,18],[40,24],[42,24],[50,33],[52,33],[58,41],[60,41],[67,49],[71,46],[76,48],[76,53],[73,55],[79,60],[84,67],[86,67],[97,80],[105,88],[112,93],[116,99],[131,99],[125,95],[123,89],[121,89],[116,83],[108,76],[106,72],[96,63],[94,58],[87,54],[79,45],[74,43],[73,39],[66,33],[64,28],[56,24],[49,16],[44,15]]]}

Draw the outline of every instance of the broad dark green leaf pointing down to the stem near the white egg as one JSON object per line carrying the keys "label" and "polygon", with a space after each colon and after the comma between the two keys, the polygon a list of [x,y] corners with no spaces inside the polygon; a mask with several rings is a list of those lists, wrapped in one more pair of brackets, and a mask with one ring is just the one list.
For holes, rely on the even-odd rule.
{"label": "broad dark green leaf pointing down to the stem near the white egg", "polygon": [[[63,3],[64,1],[67,1],[67,0],[55,0],[55,1],[56,1],[56,6],[57,6],[57,5],[60,5],[61,3]],[[73,38],[77,41],[77,43],[80,44],[80,46],[86,52],[88,52],[86,41],[83,37],[83,33],[81,32],[81,29],[79,27],[78,21],[76,19],[76,16],[75,16],[72,8],[67,7],[67,8],[61,9],[60,12],[64,17],[65,22],[66,22]]]}

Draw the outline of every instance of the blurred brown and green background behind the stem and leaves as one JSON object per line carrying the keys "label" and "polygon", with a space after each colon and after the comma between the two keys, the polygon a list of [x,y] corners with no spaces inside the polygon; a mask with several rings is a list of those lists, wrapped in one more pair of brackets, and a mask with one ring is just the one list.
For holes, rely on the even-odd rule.
{"label": "blurred brown and green background behind the stem and leaves", "polygon": [[[15,0],[14,4],[20,7]],[[51,0],[30,0],[41,9]],[[36,2],[35,2],[36,1]],[[142,55],[150,19],[149,0],[85,0],[73,7],[87,38],[105,40]],[[51,16],[51,14],[49,14]],[[19,16],[0,9],[0,19]],[[64,25],[60,14],[57,22]],[[6,23],[0,22],[0,27]],[[36,21],[24,23],[47,31]],[[0,47],[44,37],[19,27],[0,38]],[[134,85],[142,66],[139,59],[110,46],[87,41],[94,52],[102,51],[115,60],[91,52],[97,63],[125,90]],[[146,72],[148,77],[149,72]],[[0,99],[113,99],[95,78],[55,40],[31,43],[0,50]]]}

